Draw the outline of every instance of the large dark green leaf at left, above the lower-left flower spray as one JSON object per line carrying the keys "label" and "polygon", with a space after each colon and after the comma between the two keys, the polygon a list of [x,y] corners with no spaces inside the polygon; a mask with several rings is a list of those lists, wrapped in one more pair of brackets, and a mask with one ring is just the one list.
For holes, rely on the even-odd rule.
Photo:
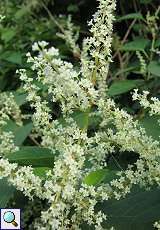
{"label": "large dark green leaf at left, above the lower-left flower spray", "polygon": [[11,163],[33,167],[53,167],[54,157],[50,149],[34,146],[24,146],[19,151],[6,156]]}

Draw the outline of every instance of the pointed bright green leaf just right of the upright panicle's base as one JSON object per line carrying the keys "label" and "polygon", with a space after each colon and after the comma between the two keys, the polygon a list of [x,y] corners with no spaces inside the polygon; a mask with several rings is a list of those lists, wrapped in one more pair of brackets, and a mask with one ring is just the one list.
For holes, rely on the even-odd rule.
{"label": "pointed bright green leaf just right of the upright panicle's base", "polygon": [[124,80],[124,81],[116,81],[114,82],[109,90],[108,94],[110,96],[120,95],[122,93],[126,93],[131,89],[137,88],[138,86],[144,83],[143,80]]}

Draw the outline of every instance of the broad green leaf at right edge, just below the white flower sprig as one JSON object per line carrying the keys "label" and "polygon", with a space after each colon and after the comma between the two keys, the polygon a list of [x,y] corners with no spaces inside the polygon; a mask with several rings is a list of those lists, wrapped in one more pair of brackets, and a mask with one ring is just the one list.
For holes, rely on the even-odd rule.
{"label": "broad green leaf at right edge, just below the white flower sprig", "polygon": [[160,119],[160,116],[145,115],[145,117],[139,121],[140,125],[145,128],[147,135],[152,136],[156,140],[159,140],[160,136],[158,119]]}

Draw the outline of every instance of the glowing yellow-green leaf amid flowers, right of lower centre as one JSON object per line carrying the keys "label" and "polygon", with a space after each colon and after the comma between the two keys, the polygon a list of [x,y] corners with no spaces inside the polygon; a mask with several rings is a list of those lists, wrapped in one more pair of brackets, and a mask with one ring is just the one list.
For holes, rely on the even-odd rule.
{"label": "glowing yellow-green leaf amid flowers, right of lower centre", "polygon": [[116,175],[116,171],[109,169],[98,169],[96,171],[90,172],[83,180],[84,184],[87,185],[97,185],[101,182],[109,182]]}

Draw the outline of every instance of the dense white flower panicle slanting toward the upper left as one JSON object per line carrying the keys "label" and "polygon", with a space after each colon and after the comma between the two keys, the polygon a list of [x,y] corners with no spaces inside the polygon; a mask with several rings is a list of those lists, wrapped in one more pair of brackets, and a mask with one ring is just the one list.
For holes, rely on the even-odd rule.
{"label": "dense white flower panicle slanting toward the upper left", "polygon": [[[28,62],[33,63],[32,69],[37,71],[37,80],[48,87],[52,102],[60,102],[63,113],[71,113],[73,109],[84,111],[94,104],[97,92],[92,83],[80,78],[71,63],[61,60],[57,49],[46,49],[41,43],[34,44],[33,48],[39,51],[39,55],[32,58],[28,54]],[[25,77],[25,73],[21,74],[21,80],[26,81],[25,89],[29,89],[30,79]],[[33,84],[31,87],[37,88]]]}

